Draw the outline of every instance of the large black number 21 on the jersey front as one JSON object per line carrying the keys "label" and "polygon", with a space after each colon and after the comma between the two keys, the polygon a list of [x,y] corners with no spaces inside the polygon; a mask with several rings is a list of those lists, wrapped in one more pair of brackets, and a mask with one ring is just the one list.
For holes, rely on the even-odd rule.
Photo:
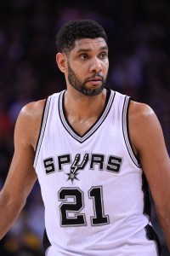
{"label": "large black number 21 on the jersey front", "polygon": [[[80,213],[84,208],[83,194],[79,188],[62,188],[59,190],[59,201],[62,201],[59,205],[61,226],[87,224],[85,214]],[[105,215],[104,212],[102,187],[92,187],[88,191],[88,197],[94,202],[94,216],[91,217],[91,224],[93,226],[109,224],[109,216]]]}

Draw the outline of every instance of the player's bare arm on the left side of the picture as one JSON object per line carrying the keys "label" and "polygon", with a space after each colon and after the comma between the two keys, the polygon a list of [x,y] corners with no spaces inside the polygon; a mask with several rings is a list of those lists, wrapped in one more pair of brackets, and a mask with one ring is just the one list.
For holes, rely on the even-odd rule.
{"label": "player's bare arm on the left side of the picture", "polygon": [[0,239],[14,224],[37,180],[33,160],[42,116],[42,106],[37,105],[35,102],[23,108],[15,125],[14,157],[0,192]]}

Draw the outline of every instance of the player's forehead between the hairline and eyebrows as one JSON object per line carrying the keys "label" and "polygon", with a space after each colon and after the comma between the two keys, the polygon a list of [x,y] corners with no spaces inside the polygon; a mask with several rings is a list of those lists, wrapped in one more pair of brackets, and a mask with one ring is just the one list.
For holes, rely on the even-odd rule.
{"label": "player's forehead between the hairline and eyebrows", "polygon": [[75,41],[75,47],[73,51],[93,51],[100,49],[108,49],[107,44],[105,43],[104,38],[82,38]]}

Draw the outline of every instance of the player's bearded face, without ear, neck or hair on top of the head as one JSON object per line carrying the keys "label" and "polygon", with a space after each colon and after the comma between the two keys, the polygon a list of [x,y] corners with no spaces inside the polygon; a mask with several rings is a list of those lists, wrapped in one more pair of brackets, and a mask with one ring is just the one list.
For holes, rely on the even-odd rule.
{"label": "player's bearded face, without ear, neck or hair on top of the head", "polygon": [[85,96],[100,94],[105,87],[109,61],[103,38],[76,41],[67,61],[68,82]]}

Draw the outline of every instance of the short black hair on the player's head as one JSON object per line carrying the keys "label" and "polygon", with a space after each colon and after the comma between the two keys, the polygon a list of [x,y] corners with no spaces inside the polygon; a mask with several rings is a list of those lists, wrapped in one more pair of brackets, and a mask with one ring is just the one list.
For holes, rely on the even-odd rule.
{"label": "short black hair on the player's head", "polygon": [[71,20],[59,29],[56,37],[59,52],[68,54],[75,46],[75,41],[82,38],[104,38],[107,44],[107,36],[103,26],[95,20]]}

